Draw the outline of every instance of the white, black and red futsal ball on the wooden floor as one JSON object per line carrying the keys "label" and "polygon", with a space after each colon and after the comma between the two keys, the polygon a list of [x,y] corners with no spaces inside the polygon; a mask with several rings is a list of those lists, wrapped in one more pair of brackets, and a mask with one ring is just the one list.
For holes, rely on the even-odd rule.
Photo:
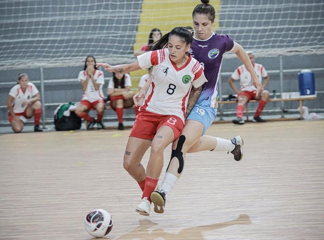
{"label": "white, black and red futsal ball on the wooden floor", "polygon": [[103,237],[112,229],[112,217],[106,210],[95,209],[87,214],[84,226],[90,235]]}

